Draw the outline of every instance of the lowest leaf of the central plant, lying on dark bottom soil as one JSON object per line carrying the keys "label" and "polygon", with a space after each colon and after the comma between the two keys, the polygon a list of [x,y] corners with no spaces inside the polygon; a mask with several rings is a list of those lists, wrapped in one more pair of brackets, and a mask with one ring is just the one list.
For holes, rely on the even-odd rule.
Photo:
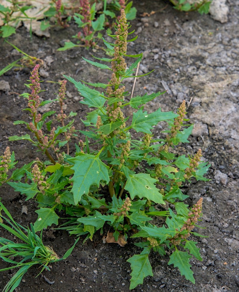
{"label": "lowest leaf of the central plant, lying on dark bottom soil", "polygon": [[131,279],[129,289],[134,289],[137,285],[143,284],[147,276],[153,276],[151,264],[148,260],[148,254],[133,255],[127,260],[131,267]]}

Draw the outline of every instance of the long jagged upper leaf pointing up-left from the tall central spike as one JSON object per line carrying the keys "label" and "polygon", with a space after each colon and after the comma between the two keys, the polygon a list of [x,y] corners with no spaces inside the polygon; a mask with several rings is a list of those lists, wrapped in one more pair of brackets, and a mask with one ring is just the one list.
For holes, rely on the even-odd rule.
{"label": "long jagged upper leaf pointing up-left from the tall central spike", "polygon": [[85,86],[85,84],[82,84],[80,81],[79,82],[75,81],[70,76],[69,77],[65,76],[65,75],[63,75],[63,76],[67,80],[72,82],[75,85],[76,89],[84,97],[84,99],[80,103],[88,105],[89,108],[92,108],[92,107],[102,108],[103,107],[106,99],[104,98],[104,96],[102,96],[102,94],[99,91]]}

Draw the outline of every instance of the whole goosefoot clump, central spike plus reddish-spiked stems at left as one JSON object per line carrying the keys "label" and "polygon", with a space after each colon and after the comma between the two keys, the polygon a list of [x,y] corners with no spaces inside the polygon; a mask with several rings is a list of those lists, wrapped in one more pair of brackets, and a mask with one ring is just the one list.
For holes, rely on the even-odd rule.
{"label": "whole goosefoot clump, central spike plus reddish-spiked stems at left", "polygon": [[[134,32],[128,32],[129,28],[125,12],[121,10],[115,25],[116,32],[110,35],[114,43],[103,39],[113,57],[95,57],[100,63],[83,58],[102,70],[112,72],[108,83],[81,82],[65,76],[83,97],[80,103],[93,108],[82,119],[86,129],[79,133],[85,142],[80,140],[78,145],[75,144],[74,156],[60,149],[71,138],[64,133],[76,133],[75,129],[71,130],[73,120],[63,125],[62,120],[67,116],[61,110],[56,118],[46,122],[56,112],[49,111],[43,115],[37,112],[40,106],[49,101],[39,101],[39,65],[35,66],[31,72],[31,83],[27,85],[32,90],[31,94],[23,94],[32,122],[15,122],[25,124],[33,137],[26,134],[10,137],[10,140],[29,140],[46,154],[49,161],[34,161],[14,170],[7,183],[15,191],[25,194],[26,200],[35,199],[39,203],[35,231],[53,223],[58,224],[58,211],[62,210],[68,218],[59,228],[75,236],[86,235],[85,240],[93,240],[97,230],[103,234],[105,223],[109,226],[107,237],[104,238],[108,243],[124,246],[129,237],[130,240],[137,238],[134,244],[143,251],[127,260],[132,269],[130,289],[142,284],[148,275],[153,275],[149,254],[154,252],[163,256],[166,254],[165,248],[173,250],[168,264],[174,264],[186,279],[194,283],[189,261],[192,256],[198,260],[201,257],[197,242],[188,240],[188,237],[191,234],[201,236],[192,230],[202,215],[202,198],[188,208],[183,202],[188,196],[182,193],[180,187],[194,178],[208,181],[203,175],[210,165],[200,161],[201,149],[192,157],[175,154],[174,148],[179,143],[189,143],[188,137],[193,128],[193,125],[183,124],[187,122],[185,101],[174,114],[171,111],[163,112],[161,108],[152,113],[144,110],[145,104],[162,95],[161,92],[128,99],[123,80],[136,77],[133,75],[134,69],[143,56],[127,54],[127,43],[137,39],[128,40],[128,35]],[[135,58],[128,68],[125,57]],[[108,62],[111,66],[102,62]],[[60,105],[64,90],[65,87],[61,85]],[[132,117],[124,116],[125,107],[134,110]],[[52,128],[54,120],[61,122],[61,126]],[[168,128],[162,137],[154,139],[153,128],[162,121],[167,122]],[[55,152],[56,158],[52,152]],[[22,182],[24,175],[26,178]],[[169,204],[171,208],[174,206],[175,212],[169,208]],[[165,217],[165,224],[152,224],[157,216]]]}

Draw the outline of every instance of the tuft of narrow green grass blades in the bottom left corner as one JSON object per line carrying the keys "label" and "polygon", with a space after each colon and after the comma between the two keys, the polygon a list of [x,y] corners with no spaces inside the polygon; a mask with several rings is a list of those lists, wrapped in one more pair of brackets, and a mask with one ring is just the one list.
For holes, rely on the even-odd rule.
{"label": "tuft of narrow green grass blades in the bottom left corner", "polygon": [[[1,214],[1,211],[4,211],[7,217],[4,217]],[[7,225],[3,223],[3,220],[6,221]],[[35,233],[32,223],[30,224],[31,228],[24,228],[20,224],[16,223],[1,202],[0,226],[17,238],[17,241],[20,240],[22,242],[14,242],[10,239],[0,237],[0,258],[6,263],[11,264],[9,267],[1,269],[0,272],[14,268],[18,269],[3,288],[3,292],[14,291],[20,284],[22,277],[27,270],[34,265],[39,265],[41,267],[41,270],[37,276],[39,276],[45,269],[50,271],[48,265],[66,259],[71,254],[75,244],[79,240],[78,238],[73,246],[63,255],[63,257],[59,258],[52,247],[45,246],[42,243],[42,232],[39,237]],[[17,261],[18,259],[19,261]]]}

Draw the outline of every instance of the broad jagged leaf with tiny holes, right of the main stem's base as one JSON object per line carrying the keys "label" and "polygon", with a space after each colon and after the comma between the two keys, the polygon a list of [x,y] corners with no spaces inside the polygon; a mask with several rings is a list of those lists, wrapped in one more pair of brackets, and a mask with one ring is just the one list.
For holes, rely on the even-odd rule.
{"label": "broad jagged leaf with tiny holes, right of the main stem's base", "polygon": [[140,199],[146,198],[157,204],[165,205],[163,195],[154,185],[157,181],[157,179],[146,173],[131,174],[127,179],[125,190],[129,191],[132,200],[135,196],[138,196]]}

